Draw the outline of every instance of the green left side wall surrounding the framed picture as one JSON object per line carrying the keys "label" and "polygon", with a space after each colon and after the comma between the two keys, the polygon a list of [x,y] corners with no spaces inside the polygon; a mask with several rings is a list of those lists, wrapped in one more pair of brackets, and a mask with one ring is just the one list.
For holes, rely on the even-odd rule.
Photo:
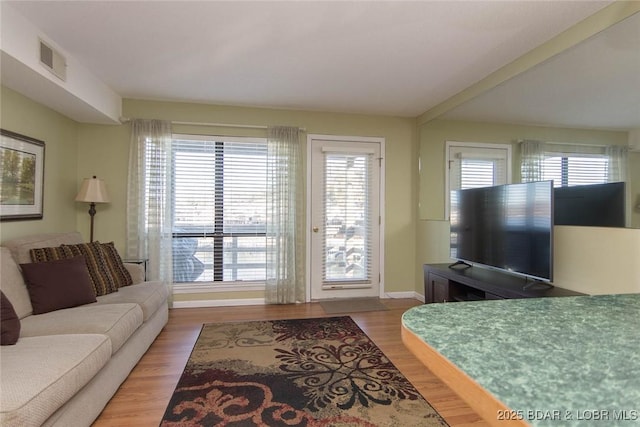
{"label": "green left side wall surrounding the framed picture", "polygon": [[9,88],[0,90],[2,129],[45,143],[43,218],[0,222],[0,242],[35,233],[75,231],[77,123]]}

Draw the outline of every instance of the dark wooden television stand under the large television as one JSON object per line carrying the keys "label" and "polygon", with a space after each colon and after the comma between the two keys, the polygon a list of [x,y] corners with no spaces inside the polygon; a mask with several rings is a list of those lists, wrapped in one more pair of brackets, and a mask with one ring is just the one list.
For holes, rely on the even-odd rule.
{"label": "dark wooden television stand under the large television", "polygon": [[449,268],[449,264],[425,264],[423,269],[426,303],[584,295],[477,266]]}

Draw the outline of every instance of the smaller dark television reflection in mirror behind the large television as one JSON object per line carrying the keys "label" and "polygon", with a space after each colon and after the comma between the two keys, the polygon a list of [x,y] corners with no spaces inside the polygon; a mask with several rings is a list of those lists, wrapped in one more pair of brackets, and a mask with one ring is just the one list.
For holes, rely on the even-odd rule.
{"label": "smaller dark television reflection in mirror behind the large television", "polygon": [[576,185],[554,189],[555,225],[624,227],[624,182]]}

